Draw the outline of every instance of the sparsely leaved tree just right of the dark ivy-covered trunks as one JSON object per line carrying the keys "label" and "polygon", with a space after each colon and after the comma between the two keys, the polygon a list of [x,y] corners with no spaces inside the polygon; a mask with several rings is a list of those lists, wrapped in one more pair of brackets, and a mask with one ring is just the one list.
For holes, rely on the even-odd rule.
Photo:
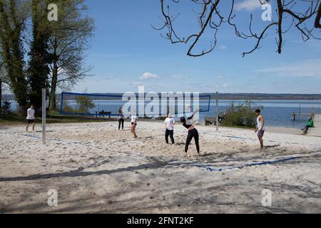
{"label": "sparsely leaved tree just right of the dark ivy-covered trunks", "polygon": [[50,24],[49,52],[52,63],[49,110],[56,110],[57,88],[72,88],[91,70],[84,60],[94,23],[87,15],[88,7],[84,0],[55,0],[52,3],[58,6],[58,21]]}

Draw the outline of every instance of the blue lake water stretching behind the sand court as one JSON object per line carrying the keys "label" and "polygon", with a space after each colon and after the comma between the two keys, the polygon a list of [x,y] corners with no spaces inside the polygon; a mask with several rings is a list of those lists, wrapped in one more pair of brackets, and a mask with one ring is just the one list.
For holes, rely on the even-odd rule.
{"label": "blue lake water stretching behind the sand court", "polygon": [[[234,100],[235,104],[243,103],[243,100]],[[265,122],[267,126],[278,126],[285,128],[301,128],[305,124],[307,116],[302,117],[304,120],[291,120],[291,113],[311,113],[312,109],[315,113],[320,113],[321,100],[253,100],[255,106],[263,106],[262,114],[265,116]],[[102,110],[99,101],[94,101],[97,105],[96,110],[91,110],[92,113],[96,113],[97,110]],[[231,100],[220,100],[219,110],[220,113],[224,111],[230,105]],[[106,101],[103,107],[108,107],[105,111],[112,111],[116,113],[116,110],[121,106],[121,103],[111,102],[106,105]],[[201,104],[200,107],[208,107],[208,104]],[[16,110],[17,104],[11,101],[11,110]],[[211,100],[210,110],[208,112],[200,113],[200,120],[203,122],[205,117],[213,117],[216,115],[216,103],[215,100]]]}

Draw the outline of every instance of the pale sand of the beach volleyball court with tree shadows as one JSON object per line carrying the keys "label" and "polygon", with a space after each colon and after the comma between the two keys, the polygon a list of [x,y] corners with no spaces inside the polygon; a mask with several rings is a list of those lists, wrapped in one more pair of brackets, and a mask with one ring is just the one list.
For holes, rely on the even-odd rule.
{"label": "pale sand of the beach volleyball court with tree shadows", "polygon": [[[261,152],[251,130],[221,128],[217,133],[198,126],[202,156],[192,142],[184,157],[187,133],[181,125],[175,128],[176,145],[165,144],[163,123],[139,122],[138,140],[128,128],[116,128],[117,123],[47,125],[43,146],[41,139],[24,136],[24,126],[0,126],[0,212],[321,212],[318,137],[267,129],[267,148]],[[310,157],[222,172],[197,166],[302,155]],[[51,189],[58,191],[58,207],[47,204]],[[272,191],[271,207],[262,205],[265,189]]]}

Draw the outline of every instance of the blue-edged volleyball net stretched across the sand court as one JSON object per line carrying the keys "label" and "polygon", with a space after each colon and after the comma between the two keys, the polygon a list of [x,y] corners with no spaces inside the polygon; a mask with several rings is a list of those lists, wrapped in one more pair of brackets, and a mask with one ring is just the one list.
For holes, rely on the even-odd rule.
{"label": "blue-edged volleyball net stretched across the sand court", "polygon": [[[88,94],[88,93],[61,93],[60,111],[63,115],[87,115],[96,117],[118,116],[123,113],[137,110],[140,117],[163,117],[168,113],[183,115],[200,110],[210,111],[210,95],[195,95],[193,93],[153,93],[137,94]],[[187,108],[186,108],[187,107]],[[189,110],[187,110],[189,109]]]}

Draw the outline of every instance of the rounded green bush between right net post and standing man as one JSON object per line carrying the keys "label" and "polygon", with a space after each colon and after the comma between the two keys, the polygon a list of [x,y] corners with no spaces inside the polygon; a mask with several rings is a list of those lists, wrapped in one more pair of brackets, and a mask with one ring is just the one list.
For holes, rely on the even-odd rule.
{"label": "rounded green bush between right net post and standing man", "polygon": [[232,102],[224,115],[223,125],[255,128],[255,109],[257,108],[250,100],[238,105]]}

